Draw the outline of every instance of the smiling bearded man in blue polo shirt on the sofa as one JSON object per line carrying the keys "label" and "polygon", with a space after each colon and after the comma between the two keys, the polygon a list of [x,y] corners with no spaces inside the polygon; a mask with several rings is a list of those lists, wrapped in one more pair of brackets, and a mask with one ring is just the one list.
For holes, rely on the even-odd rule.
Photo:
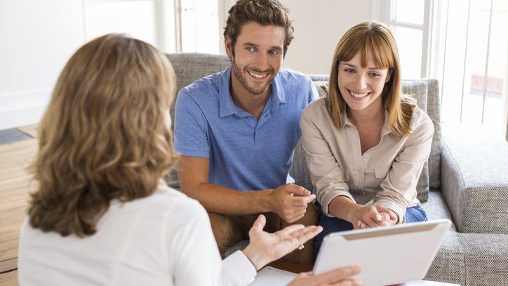
{"label": "smiling bearded man in blue polo shirt on the sofa", "polygon": [[[293,39],[277,0],[239,0],[225,27],[231,67],[182,88],[175,149],[182,191],[206,208],[220,254],[248,238],[260,213],[267,231],[317,223],[315,195],[288,175],[300,113],[318,97],[312,81],[281,69]],[[283,261],[313,264],[314,241]]]}

